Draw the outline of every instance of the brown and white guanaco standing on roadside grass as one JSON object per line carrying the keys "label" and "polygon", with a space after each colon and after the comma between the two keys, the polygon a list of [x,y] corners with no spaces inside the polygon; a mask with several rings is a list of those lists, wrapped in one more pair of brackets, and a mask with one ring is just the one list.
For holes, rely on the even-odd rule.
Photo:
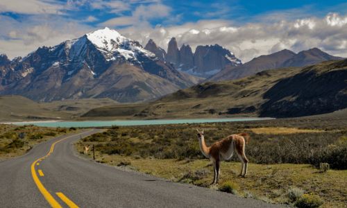
{"label": "brown and white guanaco standing on roadside grass", "polygon": [[[242,133],[239,135],[230,135],[224,139],[214,142],[211,146],[207,146],[205,143],[205,137],[203,131],[198,131],[198,142],[200,144],[200,150],[205,157],[211,159],[214,167],[214,178],[212,184],[217,184],[219,180],[220,173],[220,162],[223,160],[228,160],[232,157],[234,152],[242,162],[241,173],[239,176],[245,177],[247,174],[248,159],[244,154],[244,148],[248,140],[249,135]],[[246,138],[246,141],[245,141]]]}

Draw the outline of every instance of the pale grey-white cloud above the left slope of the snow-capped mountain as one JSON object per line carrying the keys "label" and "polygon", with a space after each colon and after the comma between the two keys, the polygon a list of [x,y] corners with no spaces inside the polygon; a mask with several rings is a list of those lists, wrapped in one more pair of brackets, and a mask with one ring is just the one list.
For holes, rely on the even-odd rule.
{"label": "pale grey-white cloud above the left slope of the snow-capped mountain", "polygon": [[55,46],[94,29],[58,17],[28,17],[17,21],[0,15],[0,22],[0,53],[6,53],[9,58],[25,56],[40,46]]}

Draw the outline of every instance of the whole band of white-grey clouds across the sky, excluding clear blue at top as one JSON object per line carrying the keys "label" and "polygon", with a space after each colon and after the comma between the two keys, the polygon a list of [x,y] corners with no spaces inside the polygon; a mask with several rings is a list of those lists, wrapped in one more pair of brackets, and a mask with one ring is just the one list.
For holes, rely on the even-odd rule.
{"label": "whole band of white-grey clouds across the sky, excluding clear blue at top", "polygon": [[[193,50],[198,45],[220,44],[243,62],[282,49],[298,52],[313,47],[347,57],[347,15],[334,12],[325,17],[307,17],[298,10],[290,10],[257,16],[256,21],[251,19],[240,23],[220,19],[219,15],[230,12],[230,8],[225,8],[206,13],[210,19],[177,24],[181,14],[173,15],[173,8],[160,0],[69,0],[65,4],[53,0],[18,1],[0,1],[0,53],[6,53],[10,58],[24,56],[39,46],[54,46],[81,37],[103,26],[118,28],[120,33],[143,45],[153,39],[163,49],[167,49],[171,37],[176,37],[179,46],[189,44]],[[97,13],[85,15],[79,20],[74,19],[76,16],[69,18],[69,10],[81,8],[105,10],[108,17],[115,16],[100,24],[103,18]],[[16,12],[27,17],[15,19],[1,15],[1,12]],[[153,20],[165,26],[153,26]]]}

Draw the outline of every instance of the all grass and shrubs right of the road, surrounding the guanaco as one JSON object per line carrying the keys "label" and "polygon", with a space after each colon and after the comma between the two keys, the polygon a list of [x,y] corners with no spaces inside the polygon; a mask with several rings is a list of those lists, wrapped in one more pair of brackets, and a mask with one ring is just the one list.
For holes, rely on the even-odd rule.
{"label": "all grass and shrubs right of the road, surrounding the guanaco", "polygon": [[[213,171],[200,152],[196,128],[208,145],[227,135],[248,132],[246,178],[234,155],[222,162],[219,191],[296,207],[347,204],[347,125],[344,119],[277,119],[237,123],[117,127],[76,144],[94,144],[96,161],[142,173],[210,187]],[[91,153],[89,156],[92,157]],[[321,164],[328,168],[320,169]]]}

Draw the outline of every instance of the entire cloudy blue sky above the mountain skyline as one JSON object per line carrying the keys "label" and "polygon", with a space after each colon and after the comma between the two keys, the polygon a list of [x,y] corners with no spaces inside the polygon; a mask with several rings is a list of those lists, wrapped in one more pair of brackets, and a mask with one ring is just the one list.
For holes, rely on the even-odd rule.
{"label": "entire cloudy blue sky above the mountain skyline", "polygon": [[108,26],[164,49],[221,44],[243,60],[319,47],[346,55],[346,1],[1,0],[0,53],[11,58]]}

